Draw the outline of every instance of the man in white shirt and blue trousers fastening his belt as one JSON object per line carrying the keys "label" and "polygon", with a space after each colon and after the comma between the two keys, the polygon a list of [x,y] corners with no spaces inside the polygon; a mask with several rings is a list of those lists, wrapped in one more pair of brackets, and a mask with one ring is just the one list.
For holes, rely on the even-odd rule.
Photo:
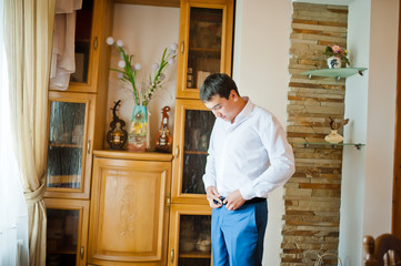
{"label": "man in white shirt and blue trousers fastening his belt", "polygon": [[203,175],[213,266],[260,266],[267,196],[293,174],[292,149],[278,120],[241,98],[229,75],[209,75],[200,98],[217,117]]}

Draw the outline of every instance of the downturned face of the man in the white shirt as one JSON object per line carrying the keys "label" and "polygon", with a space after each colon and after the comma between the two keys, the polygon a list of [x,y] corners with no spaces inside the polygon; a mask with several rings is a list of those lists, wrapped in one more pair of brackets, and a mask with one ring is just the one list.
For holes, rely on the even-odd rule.
{"label": "downturned face of the man in the white shirt", "polygon": [[204,102],[204,105],[213,112],[215,117],[233,123],[238,114],[238,98],[235,91],[231,90],[229,99],[214,95],[210,101]]}

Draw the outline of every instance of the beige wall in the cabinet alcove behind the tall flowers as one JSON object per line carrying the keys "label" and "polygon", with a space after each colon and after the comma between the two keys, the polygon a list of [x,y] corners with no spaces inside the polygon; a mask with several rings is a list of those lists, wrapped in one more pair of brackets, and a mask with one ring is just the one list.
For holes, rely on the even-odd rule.
{"label": "beige wall in the cabinet alcove behind the tall flowers", "polygon": [[[116,4],[112,35],[116,40],[121,39],[124,42],[127,53],[134,54],[133,61],[139,62],[142,69],[138,73],[138,82],[147,81],[149,74],[153,71],[152,63],[160,63],[163,49],[170,48],[171,43],[178,43],[179,34],[179,8],[162,8],[138,4]],[[116,49],[111,52],[111,68],[118,68],[119,54]],[[153,139],[158,132],[161,121],[161,109],[166,105],[171,108],[170,131],[173,131],[174,101],[176,101],[176,73],[177,64],[170,65],[166,71],[167,82],[162,90],[154,94],[149,102],[148,110],[150,116],[150,143],[153,145]],[[113,102],[121,101],[121,108],[118,112],[120,119],[124,120],[127,126],[131,120],[134,106],[133,94],[130,86],[124,85],[117,72],[110,71],[109,74],[109,96],[108,108],[113,106]],[[109,131],[109,123],[112,120],[111,111],[108,113],[108,123],[106,131]],[[127,129],[127,127],[126,127]]]}

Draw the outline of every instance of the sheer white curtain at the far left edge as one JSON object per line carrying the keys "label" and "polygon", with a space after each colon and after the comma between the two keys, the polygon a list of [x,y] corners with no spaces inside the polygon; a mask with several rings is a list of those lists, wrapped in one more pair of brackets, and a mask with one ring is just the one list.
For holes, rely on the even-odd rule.
{"label": "sheer white curtain at the far left edge", "polygon": [[29,265],[28,211],[11,134],[9,82],[0,0],[0,265]]}

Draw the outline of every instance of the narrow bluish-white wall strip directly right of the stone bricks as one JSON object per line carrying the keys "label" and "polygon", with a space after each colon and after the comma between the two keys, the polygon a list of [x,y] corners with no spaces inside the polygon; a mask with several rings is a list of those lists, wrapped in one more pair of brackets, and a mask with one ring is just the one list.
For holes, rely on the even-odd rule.
{"label": "narrow bluish-white wall strip directly right of the stone bricks", "polygon": [[[367,66],[364,76],[347,80],[345,116],[351,123],[344,129],[344,140],[367,143],[368,84],[370,76],[369,38],[370,1],[355,1],[349,7],[349,51],[352,64]],[[363,110],[361,112],[361,110]],[[347,149],[343,153],[342,204],[339,254],[350,265],[362,262],[362,224],[367,147]]]}

